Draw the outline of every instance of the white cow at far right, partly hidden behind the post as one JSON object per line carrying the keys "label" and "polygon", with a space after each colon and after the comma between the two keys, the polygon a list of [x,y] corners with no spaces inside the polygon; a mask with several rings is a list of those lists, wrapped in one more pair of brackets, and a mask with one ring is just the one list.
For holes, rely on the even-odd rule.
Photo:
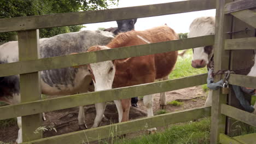
{"label": "white cow at far right, partly hidden behind the post", "polygon": [[[210,35],[215,33],[215,17],[203,16],[196,18],[189,27],[188,38],[200,37],[203,35]],[[193,59],[191,66],[193,68],[210,68],[210,61],[213,61],[213,46],[196,47],[193,49]],[[248,76],[256,76],[256,56],[254,58],[254,66],[251,68]],[[212,90],[209,90],[205,106],[212,105]],[[255,92],[254,92],[255,94]],[[256,110],[256,103],[254,104]],[[254,113],[256,111],[254,110]]]}

